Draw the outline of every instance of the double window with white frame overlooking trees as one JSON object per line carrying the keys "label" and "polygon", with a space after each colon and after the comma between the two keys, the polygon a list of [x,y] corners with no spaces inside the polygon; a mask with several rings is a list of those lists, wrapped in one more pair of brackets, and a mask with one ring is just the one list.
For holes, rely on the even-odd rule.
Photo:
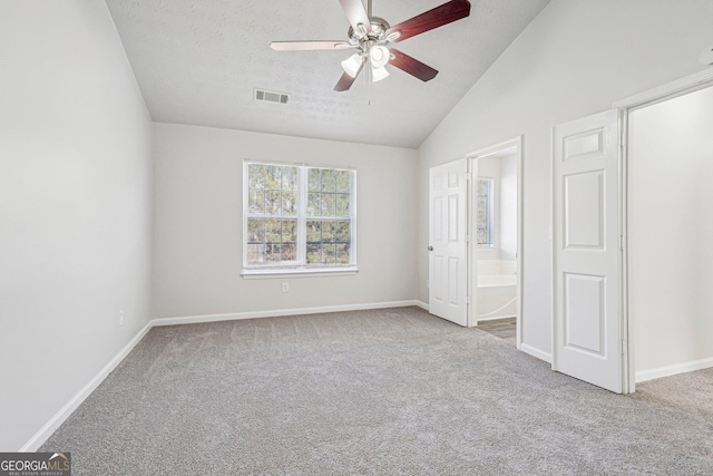
{"label": "double window with white frame overlooking trees", "polygon": [[355,266],[354,171],[245,162],[244,176],[244,274]]}

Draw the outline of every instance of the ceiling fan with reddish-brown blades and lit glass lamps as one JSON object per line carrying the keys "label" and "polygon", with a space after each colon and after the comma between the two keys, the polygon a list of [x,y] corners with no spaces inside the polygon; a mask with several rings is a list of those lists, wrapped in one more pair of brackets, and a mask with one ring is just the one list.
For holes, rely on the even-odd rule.
{"label": "ceiling fan with reddish-brown blades and lit glass lamps", "polygon": [[389,43],[403,41],[470,14],[469,1],[451,0],[391,27],[383,18],[371,14],[371,0],[368,4],[369,11],[364,10],[362,0],[339,0],[339,2],[351,23],[346,41],[273,41],[270,43],[275,51],[356,49],[354,55],[342,61],[344,74],[334,87],[335,91],[345,91],[351,88],[367,64],[374,82],[389,76],[387,65],[395,66],[422,81],[433,79],[438,75],[436,69],[395,48],[389,48]]}

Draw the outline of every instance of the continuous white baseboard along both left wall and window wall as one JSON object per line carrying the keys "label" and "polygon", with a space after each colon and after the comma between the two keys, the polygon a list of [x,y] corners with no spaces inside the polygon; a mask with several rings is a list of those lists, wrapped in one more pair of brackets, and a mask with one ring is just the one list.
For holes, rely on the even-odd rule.
{"label": "continuous white baseboard along both left wall and window wall", "polygon": [[281,315],[299,315],[299,314],[319,314],[325,312],[343,312],[343,311],[361,311],[369,309],[389,309],[389,308],[407,308],[410,305],[418,305],[422,308],[423,303],[420,301],[393,301],[393,302],[377,302],[369,304],[348,304],[348,305],[330,305],[322,308],[303,308],[303,309],[285,309],[276,311],[261,311],[261,312],[240,312],[233,314],[213,314],[213,315],[194,315],[185,318],[163,318],[154,319],[149,321],[110,361],[107,363],[89,382],[82,387],[77,395],[75,395],[50,420],[45,424],[29,439],[19,451],[37,451],[45,441],[65,422],[67,418],[75,411],[81,404],[91,395],[91,392],[99,387],[99,385],[106,379],[114,369],[129,354],[129,352],[136,347],[136,344],[144,339],[144,336],[148,333],[154,327],[175,326],[175,324],[191,324],[198,322],[217,322],[235,319],[255,319],[255,318],[275,318]]}

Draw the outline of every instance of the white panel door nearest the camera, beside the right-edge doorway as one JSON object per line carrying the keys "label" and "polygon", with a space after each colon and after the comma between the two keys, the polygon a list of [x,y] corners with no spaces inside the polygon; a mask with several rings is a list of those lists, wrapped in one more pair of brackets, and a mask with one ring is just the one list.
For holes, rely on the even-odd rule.
{"label": "white panel door nearest the camera, beside the right-edge doorway", "polygon": [[617,113],[556,126],[553,370],[622,392]]}

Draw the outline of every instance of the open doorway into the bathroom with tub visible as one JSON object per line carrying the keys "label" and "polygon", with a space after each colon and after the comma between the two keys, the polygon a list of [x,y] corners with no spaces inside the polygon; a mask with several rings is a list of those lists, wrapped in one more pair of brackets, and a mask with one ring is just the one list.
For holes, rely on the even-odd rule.
{"label": "open doorway into the bathroom with tub visible", "polygon": [[521,342],[521,138],[469,155],[470,326]]}

